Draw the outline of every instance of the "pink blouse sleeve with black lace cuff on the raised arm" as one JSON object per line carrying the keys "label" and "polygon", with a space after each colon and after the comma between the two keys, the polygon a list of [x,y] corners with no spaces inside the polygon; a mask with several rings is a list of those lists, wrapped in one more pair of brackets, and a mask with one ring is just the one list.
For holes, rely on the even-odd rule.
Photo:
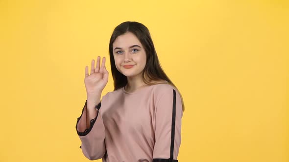
{"label": "pink blouse sleeve with black lace cuff on the raised arm", "polygon": [[106,152],[104,144],[105,128],[99,112],[100,106],[101,103],[99,102],[96,106],[98,109],[96,117],[90,121],[90,128],[85,129],[83,132],[77,129],[77,126],[80,124],[86,125],[86,101],[81,116],[77,118],[76,122],[76,132],[81,140],[80,148],[84,156],[89,160],[101,159]]}

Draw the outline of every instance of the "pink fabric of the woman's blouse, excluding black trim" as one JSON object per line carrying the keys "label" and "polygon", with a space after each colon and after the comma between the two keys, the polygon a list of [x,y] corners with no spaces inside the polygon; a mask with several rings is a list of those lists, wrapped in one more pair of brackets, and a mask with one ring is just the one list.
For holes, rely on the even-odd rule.
{"label": "pink fabric of the woman's blouse, excluding black trim", "polygon": [[[120,88],[102,97],[98,117],[86,136],[79,136],[82,152],[103,162],[152,162],[169,159],[173,87],[145,86],[129,93]],[[176,91],[173,159],[181,144],[182,102]],[[79,123],[86,122],[86,105]]]}

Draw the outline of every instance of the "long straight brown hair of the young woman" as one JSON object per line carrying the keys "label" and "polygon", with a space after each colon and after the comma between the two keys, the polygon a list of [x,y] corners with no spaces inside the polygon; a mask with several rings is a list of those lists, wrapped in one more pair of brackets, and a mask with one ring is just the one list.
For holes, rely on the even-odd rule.
{"label": "long straight brown hair of the young woman", "polygon": [[[179,92],[177,87],[172,83],[172,81],[170,81],[169,77],[166,75],[166,73],[164,72],[164,70],[160,65],[157,52],[152,42],[149,30],[144,24],[136,21],[126,21],[120,23],[114,29],[109,41],[109,57],[110,57],[111,74],[114,80],[114,87],[115,87],[114,90],[122,88],[127,84],[127,78],[118,71],[113,56],[113,42],[117,39],[118,36],[123,35],[126,32],[133,33],[145,48],[146,64],[143,71],[143,80],[145,84],[148,85],[158,84],[156,82],[151,81],[167,81]],[[184,101],[181,94],[180,96],[182,99],[182,107],[184,111],[185,110]]]}

